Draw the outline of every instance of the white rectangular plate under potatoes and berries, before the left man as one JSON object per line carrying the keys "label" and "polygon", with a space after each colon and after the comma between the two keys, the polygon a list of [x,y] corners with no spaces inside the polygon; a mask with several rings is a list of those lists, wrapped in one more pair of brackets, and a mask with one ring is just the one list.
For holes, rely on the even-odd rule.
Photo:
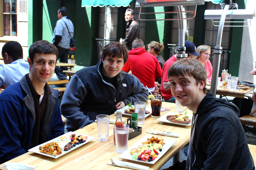
{"label": "white rectangular plate under potatoes and berries, before the left man", "polygon": [[[86,137],[86,136],[87,136],[87,140],[86,140],[86,142],[84,142],[84,143],[82,143],[82,144],[79,144],[79,145],[76,145],[75,147],[69,149],[68,151],[64,151],[64,146],[65,146],[66,144],[68,144],[68,142],[70,142],[69,136],[70,136],[71,134],[82,135],[83,137]],[[62,138],[60,138],[60,137],[62,137]],[[66,138],[66,137],[67,137],[67,138]],[[63,139],[63,138],[64,138],[64,139]],[[96,138],[96,137],[84,135],[84,134],[81,134],[81,133],[68,132],[68,133],[66,133],[66,134],[64,134],[64,135],[61,135],[61,136],[56,137],[56,138],[54,138],[54,139],[52,139],[52,140],[49,140],[48,142],[45,142],[45,143],[40,144],[40,145],[38,145],[38,146],[35,146],[34,148],[29,149],[28,151],[30,151],[30,152],[35,152],[35,153],[38,153],[38,154],[41,154],[41,155],[48,156],[48,157],[51,157],[51,158],[55,158],[55,159],[56,159],[56,158],[59,158],[60,156],[62,156],[62,155],[64,155],[64,154],[66,154],[66,153],[68,153],[68,152],[70,152],[70,151],[73,151],[74,149],[76,149],[76,148],[78,148],[78,147],[80,147],[80,146],[82,146],[82,145],[84,145],[84,144],[90,142],[91,140],[93,140],[93,139],[95,139],[95,138]],[[61,151],[62,151],[62,153],[61,153],[60,155],[57,155],[57,156],[48,155],[48,154],[46,154],[46,153],[41,153],[40,150],[38,149],[39,146],[43,146],[43,145],[45,145],[45,144],[47,144],[47,143],[51,143],[51,142],[53,142],[53,141],[54,141],[54,142],[58,142],[58,141],[60,141],[60,140],[65,141],[65,142],[62,142],[62,144],[59,144],[59,146],[60,146],[60,148],[61,148]]]}

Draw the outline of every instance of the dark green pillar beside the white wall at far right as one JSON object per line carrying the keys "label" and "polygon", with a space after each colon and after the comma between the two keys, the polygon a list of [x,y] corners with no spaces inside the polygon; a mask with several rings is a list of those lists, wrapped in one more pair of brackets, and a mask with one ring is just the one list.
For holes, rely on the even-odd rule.
{"label": "dark green pillar beside the white wall at far right", "polygon": [[[246,2],[244,0],[236,0],[236,3],[239,5],[238,9],[245,9]],[[244,21],[244,19],[236,19],[235,21]],[[243,25],[235,23],[235,25]],[[239,74],[239,65],[241,57],[241,48],[242,48],[242,37],[243,37],[243,27],[231,27],[232,28],[232,41],[231,41],[231,52],[230,52],[230,61],[228,72],[232,73],[232,76],[238,76]]]}

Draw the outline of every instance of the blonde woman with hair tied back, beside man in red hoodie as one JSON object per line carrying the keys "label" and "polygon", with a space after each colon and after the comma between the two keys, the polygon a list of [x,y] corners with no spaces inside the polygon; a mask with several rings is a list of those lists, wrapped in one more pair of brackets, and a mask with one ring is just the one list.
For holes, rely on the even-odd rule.
{"label": "blonde woman with hair tied back, beside man in red hoodie", "polygon": [[161,66],[161,69],[163,69],[163,66],[165,63],[164,58],[160,55],[160,52],[162,51],[162,49],[164,49],[163,43],[151,41],[148,44],[148,53],[154,55],[157,58],[160,66]]}

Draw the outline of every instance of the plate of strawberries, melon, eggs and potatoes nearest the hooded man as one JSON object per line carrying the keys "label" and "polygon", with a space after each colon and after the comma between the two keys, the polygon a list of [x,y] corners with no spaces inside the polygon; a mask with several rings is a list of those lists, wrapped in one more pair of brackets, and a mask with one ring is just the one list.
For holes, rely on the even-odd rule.
{"label": "plate of strawberries, melon, eggs and potatoes nearest the hooded man", "polygon": [[155,164],[177,141],[158,138],[157,135],[141,138],[118,158],[145,164]]}

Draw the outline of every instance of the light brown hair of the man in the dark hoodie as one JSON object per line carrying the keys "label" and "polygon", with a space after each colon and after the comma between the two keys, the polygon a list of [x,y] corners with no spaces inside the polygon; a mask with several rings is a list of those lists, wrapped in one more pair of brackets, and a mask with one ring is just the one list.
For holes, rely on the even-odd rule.
{"label": "light brown hair of the man in the dark hoodie", "polygon": [[[196,79],[196,85],[202,82],[206,82],[207,73],[202,63],[197,60],[178,60],[174,62],[168,70],[168,79],[171,76],[184,76],[185,74],[193,76]],[[204,93],[206,92],[206,87],[204,85]]]}

